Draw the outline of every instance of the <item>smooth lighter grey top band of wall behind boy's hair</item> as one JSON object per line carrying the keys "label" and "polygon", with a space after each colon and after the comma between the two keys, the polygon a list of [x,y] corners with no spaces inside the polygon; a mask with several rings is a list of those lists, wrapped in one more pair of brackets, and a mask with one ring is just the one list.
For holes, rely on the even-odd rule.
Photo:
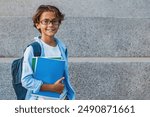
{"label": "smooth lighter grey top band of wall behind boy's hair", "polygon": [[148,0],[1,0],[1,16],[32,16],[41,4],[56,5],[67,17],[149,18]]}

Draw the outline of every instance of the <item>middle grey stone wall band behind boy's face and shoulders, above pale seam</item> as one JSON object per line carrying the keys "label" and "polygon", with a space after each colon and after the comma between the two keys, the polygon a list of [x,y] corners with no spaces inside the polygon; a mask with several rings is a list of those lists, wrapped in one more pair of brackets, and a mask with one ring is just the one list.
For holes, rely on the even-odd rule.
{"label": "middle grey stone wall band behind boy's face and shoulders, above pale seam", "polygon": [[[0,17],[0,56],[18,57],[39,35],[31,18]],[[71,57],[146,57],[150,55],[150,20],[145,18],[75,18],[63,22],[61,38]]]}

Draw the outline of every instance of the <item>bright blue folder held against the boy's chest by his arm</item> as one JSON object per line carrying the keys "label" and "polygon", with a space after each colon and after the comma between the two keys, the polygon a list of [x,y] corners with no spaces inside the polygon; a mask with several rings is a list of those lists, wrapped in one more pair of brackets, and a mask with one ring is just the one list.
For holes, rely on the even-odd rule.
{"label": "bright blue folder held against the boy's chest by his arm", "polygon": [[[51,58],[36,58],[34,60],[34,77],[35,79],[42,80],[45,84],[54,84],[58,79],[62,78],[65,70],[65,61]],[[51,97],[59,99],[63,94],[50,91],[40,91],[33,93],[43,97]]]}

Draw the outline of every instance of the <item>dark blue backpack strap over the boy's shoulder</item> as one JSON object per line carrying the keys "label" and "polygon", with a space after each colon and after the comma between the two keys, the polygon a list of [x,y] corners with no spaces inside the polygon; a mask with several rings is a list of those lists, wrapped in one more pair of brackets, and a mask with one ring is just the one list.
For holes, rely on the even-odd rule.
{"label": "dark blue backpack strap over the boy's shoulder", "polygon": [[34,56],[41,56],[41,45],[38,42],[33,42],[30,45],[33,47]]}

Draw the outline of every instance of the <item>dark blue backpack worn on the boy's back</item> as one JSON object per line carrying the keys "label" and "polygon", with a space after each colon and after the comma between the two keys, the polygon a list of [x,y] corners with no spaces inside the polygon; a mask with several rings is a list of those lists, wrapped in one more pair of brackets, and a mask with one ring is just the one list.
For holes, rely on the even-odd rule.
{"label": "dark blue backpack worn on the boy's back", "polygon": [[[33,47],[34,56],[41,56],[40,44],[38,42],[33,42],[27,47],[30,45]],[[21,83],[23,58],[24,57],[14,60],[11,65],[12,85],[17,96],[17,100],[24,100],[27,93],[27,89],[24,88]]]}

